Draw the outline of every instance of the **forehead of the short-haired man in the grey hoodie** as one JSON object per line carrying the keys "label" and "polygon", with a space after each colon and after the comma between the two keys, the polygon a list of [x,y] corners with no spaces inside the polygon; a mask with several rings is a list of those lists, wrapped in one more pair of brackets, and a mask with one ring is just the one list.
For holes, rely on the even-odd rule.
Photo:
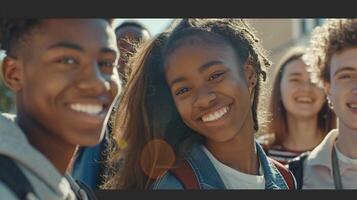
{"label": "forehead of the short-haired man in the grey hoodie", "polygon": [[116,49],[114,31],[104,19],[44,20],[33,37],[40,40],[42,45],[73,42],[83,48],[111,47]]}

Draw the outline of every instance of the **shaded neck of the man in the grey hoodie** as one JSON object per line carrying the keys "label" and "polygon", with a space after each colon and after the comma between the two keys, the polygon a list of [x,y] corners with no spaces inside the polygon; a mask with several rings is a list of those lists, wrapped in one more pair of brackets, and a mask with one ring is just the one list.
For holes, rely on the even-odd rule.
{"label": "shaded neck of the man in the grey hoodie", "polygon": [[63,175],[69,167],[77,146],[65,142],[34,120],[26,120],[25,118],[18,115],[17,122],[30,144],[40,151]]}

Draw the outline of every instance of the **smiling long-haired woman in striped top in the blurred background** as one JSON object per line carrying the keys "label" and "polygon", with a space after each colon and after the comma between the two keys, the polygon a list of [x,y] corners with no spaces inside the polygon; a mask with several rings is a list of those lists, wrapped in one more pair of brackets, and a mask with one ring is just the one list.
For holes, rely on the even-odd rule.
{"label": "smiling long-haired woman in striped top in the blurred background", "polygon": [[287,50],[276,67],[268,119],[259,140],[267,155],[286,164],[315,148],[336,128],[323,89],[311,82],[304,47]]}

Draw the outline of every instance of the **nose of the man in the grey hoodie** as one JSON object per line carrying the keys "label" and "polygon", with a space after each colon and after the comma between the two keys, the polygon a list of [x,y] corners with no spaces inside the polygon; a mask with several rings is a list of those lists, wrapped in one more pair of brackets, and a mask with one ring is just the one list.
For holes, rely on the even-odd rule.
{"label": "nose of the man in the grey hoodie", "polygon": [[97,63],[85,67],[81,72],[77,87],[91,94],[101,94],[111,89],[110,82],[103,76]]}

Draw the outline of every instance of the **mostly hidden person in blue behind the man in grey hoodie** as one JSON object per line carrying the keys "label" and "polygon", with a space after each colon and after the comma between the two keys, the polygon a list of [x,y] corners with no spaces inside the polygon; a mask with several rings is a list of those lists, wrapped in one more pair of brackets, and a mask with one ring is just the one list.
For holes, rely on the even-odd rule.
{"label": "mostly hidden person in blue behind the man in grey hoodie", "polygon": [[[115,34],[120,51],[118,72],[121,75],[124,86],[131,72],[131,67],[128,63],[129,57],[133,56],[139,44],[148,41],[151,35],[146,27],[136,21],[124,21],[115,28]],[[109,125],[100,144],[93,147],[79,148],[73,164],[72,176],[83,181],[92,189],[99,189],[99,186],[104,183],[104,177],[108,172],[105,160],[108,156],[111,129]]]}

